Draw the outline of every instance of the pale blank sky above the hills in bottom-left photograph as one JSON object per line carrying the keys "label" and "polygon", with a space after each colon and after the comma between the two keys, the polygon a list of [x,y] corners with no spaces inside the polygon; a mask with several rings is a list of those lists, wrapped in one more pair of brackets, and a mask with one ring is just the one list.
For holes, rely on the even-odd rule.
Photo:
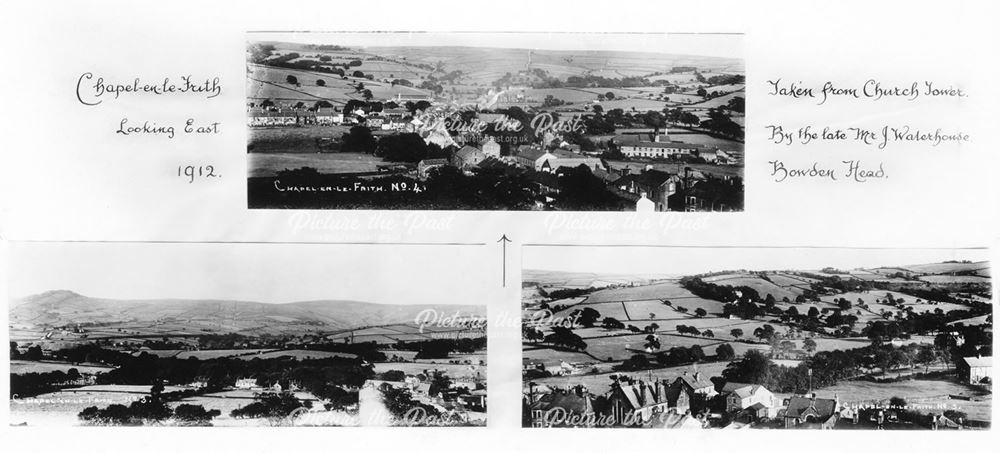
{"label": "pale blank sky above the hills in bottom-left photograph", "polygon": [[71,290],[110,299],[485,304],[500,281],[484,246],[22,242],[9,251],[14,299]]}

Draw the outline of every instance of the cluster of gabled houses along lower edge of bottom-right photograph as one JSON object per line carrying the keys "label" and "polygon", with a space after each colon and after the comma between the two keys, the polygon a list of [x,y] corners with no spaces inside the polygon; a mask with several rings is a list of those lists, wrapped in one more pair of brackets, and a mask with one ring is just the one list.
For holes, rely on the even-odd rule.
{"label": "cluster of gabled houses along lower edge of bottom-right photograph", "polygon": [[741,428],[780,420],[785,428],[831,429],[842,409],[836,397],[780,400],[757,384],[729,382],[717,390],[697,372],[673,381],[619,376],[603,395],[582,385],[540,387],[529,384],[524,396],[531,427]]}

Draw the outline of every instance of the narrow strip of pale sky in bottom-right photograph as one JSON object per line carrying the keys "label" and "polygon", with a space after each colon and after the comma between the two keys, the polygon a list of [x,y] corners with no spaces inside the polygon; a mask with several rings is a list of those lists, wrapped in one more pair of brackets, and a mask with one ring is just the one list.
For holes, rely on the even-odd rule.
{"label": "narrow strip of pale sky in bottom-right photograph", "polygon": [[551,247],[522,251],[524,269],[604,274],[693,275],[723,270],[840,269],[989,260],[982,249]]}

